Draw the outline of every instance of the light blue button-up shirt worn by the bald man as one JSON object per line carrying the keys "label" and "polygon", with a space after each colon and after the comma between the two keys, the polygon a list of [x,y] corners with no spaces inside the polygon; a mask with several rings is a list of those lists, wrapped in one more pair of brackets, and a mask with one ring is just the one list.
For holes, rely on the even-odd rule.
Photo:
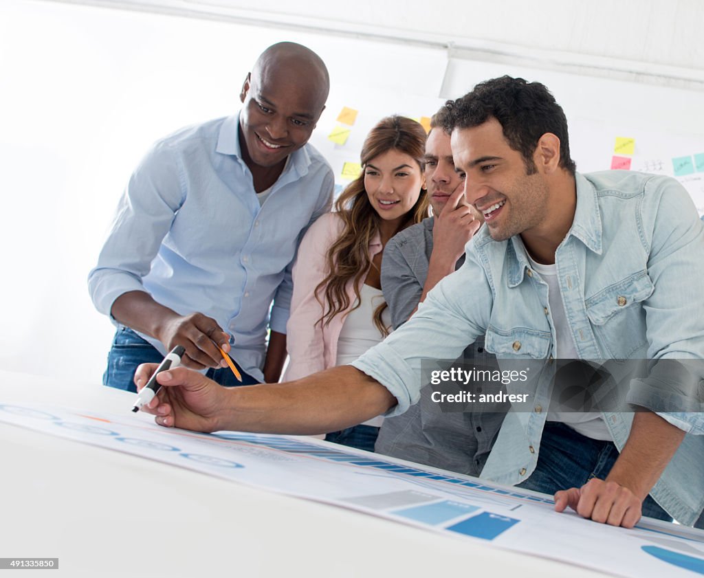
{"label": "light blue button-up shirt worn by the bald man", "polygon": [[88,284],[106,315],[135,290],[180,315],[208,315],[234,337],[232,357],[263,380],[267,327],[286,333],[291,263],[308,225],[329,211],[334,176],[306,144],[260,206],[238,134],[239,114],[157,142],[127,184]]}

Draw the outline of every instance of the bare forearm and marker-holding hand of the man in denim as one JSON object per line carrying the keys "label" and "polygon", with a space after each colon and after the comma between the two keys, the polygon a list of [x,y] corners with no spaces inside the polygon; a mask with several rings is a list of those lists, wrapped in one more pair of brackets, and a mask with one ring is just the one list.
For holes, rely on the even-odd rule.
{"label": "bare forearm and marker-holding hand of the man in denim", "polygon": [[[137,389],[155,369],[153,363],[137,368]],[[350,365],[294,382],[233,388],[220,387],[185,367],[161,372],[157,379],[163,387],[143,409],[155,414],[160,425],[199,432],[322,434],[356,425],[396,405],[382,384]]]}

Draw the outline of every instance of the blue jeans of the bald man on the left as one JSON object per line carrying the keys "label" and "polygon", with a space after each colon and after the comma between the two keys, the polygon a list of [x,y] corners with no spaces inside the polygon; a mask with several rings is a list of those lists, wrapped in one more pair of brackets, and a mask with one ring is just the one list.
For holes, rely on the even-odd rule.
{"label": "blue jeans of the bald man on the left", "polygon": [[[163,358],[164,356],[149,341],[139,337],[129,327],[120,326],[115,333],[110,353],[108,353],[108,368],[103,373],[103,385],[127,391],[137,391],[137,387],[134,385],[134,372],[137,371],[137,365],[140,363],[161,363]],[[211,367],[206,372],[206,377],[225,387],[259,383],[249,373],[242,371],[236,361],[232,361],[242,375],[241,383],[234,377],[230,367],[218,369]]]}

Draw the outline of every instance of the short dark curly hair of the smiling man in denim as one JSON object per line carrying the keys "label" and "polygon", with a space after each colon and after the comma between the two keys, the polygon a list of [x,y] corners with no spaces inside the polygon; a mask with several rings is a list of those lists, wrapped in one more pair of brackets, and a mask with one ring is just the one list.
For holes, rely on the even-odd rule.
{"label": "short dark curly hair of the smiling man in denim", "polygon": [[441,114],[445,132],[483,125],[496,118],[503,136],[514,151],[521,153],[526,172],[536,172],[535,147],[546,132],[560,139],[560,167],[574,175],[577,164],[570,158],[567,118],[555,97],[540,82],[502,76],[480,82],[472,92],[447,101]]}

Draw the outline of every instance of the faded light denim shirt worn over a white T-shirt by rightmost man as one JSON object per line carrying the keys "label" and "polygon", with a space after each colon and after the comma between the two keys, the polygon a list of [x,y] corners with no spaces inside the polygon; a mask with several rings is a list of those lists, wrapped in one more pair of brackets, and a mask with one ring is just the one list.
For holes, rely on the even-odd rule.
{"label": "faded light denim shirt worn over a white T-shirt by rightmost man", "polygon": [[[694,359],[703,379],[704,224],[689,195],[668,177],[629,171],[576,175],[577,209],[555,253],[572,339],[582,359]],[[520,238],[494,241],[482,227],[467,244],[465,264],[429,292],[417,313],[353,365],[398,400],[415,403],[423,359],[453,359],[479,335],[498,358],[552,363],[555,327],[548,287],[529,265]],[[657,383],[631,385],[629,401],[652,410],[671,398]],[[551,391],[538,387],[532,410],[506,416],[482,477],[523,482],[536,467]],[[675,400],[679,411],[681,400]],[[651,495],[683,524],[704,508],[704,436],[699,408],[672,422],[685,436]],[[603,413],[621,449],[633,413]]]}

